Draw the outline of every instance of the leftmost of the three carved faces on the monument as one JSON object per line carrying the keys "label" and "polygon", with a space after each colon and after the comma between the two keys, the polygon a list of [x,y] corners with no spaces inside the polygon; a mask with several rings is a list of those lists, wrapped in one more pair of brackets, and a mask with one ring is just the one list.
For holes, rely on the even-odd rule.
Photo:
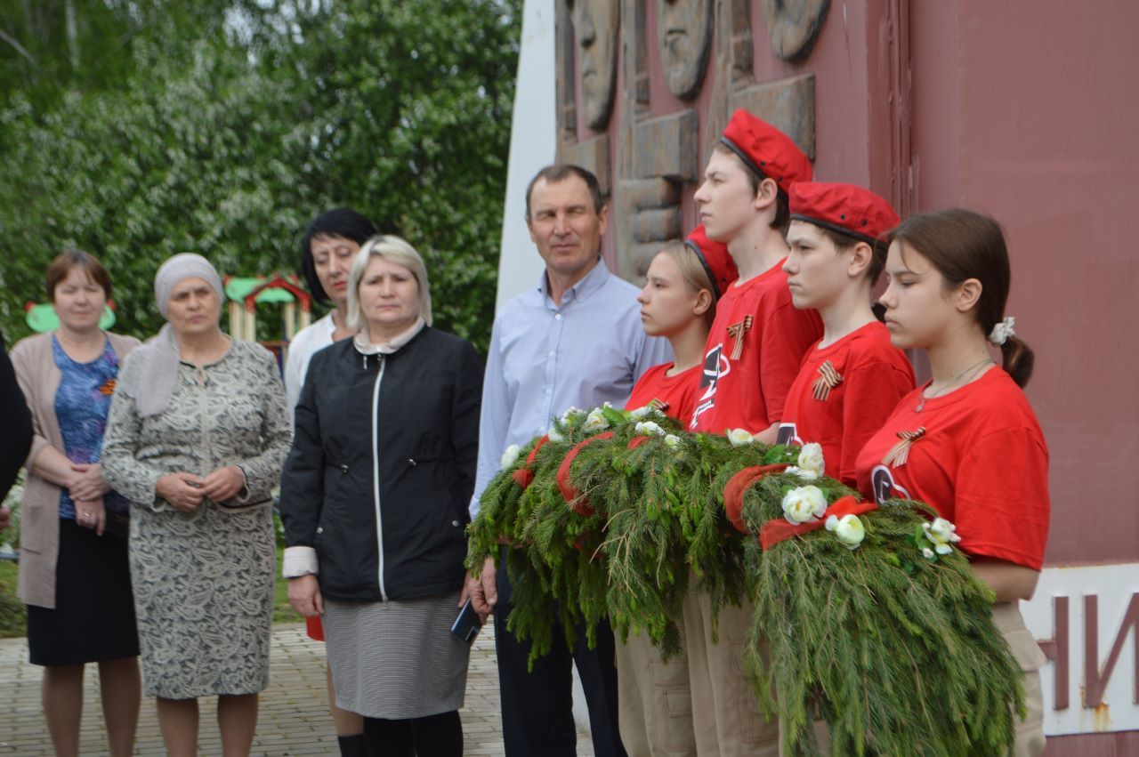
{"label": "leftmost of the three carved faces on the monument", "polygon": [[617,0],[568,0],[577,46],[581,107],[590,129],[605,129],[617,80]]}

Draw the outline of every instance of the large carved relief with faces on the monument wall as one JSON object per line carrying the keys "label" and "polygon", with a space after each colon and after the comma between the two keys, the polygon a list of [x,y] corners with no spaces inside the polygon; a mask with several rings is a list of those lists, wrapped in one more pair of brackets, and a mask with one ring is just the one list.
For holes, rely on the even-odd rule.
{"label": "large carved relief with faces on the monument wall", "polygon": [[[623,278],[640,286],[661,245],[688,231],[682,228],[681,195],[699,181],[734,109],[746,108],[771,122],[814,159],[814,75],[756,82],[753,46],[756,38],[767,36],[778,56],[806,58],[827,6],[827,0],[763,0],[764,17],[757,22],[767,22],[768,33],[756,34],[751,0],[558,1],[558,158],[596,173],[603,192],[611,196],[616,263]],[[708,59],[713,61],[713,90],[703,113],[695,108],[659,116],[652,113],[646,14],[654,9],[662,74],[673,94],[699,96]],[[678,26],[681,18],[686,19],[683,33]],[[609,33],[607,47],[598,42],[603,27]],[[607,129],[617,94],[618,33],[624,87],[620,118]],[[581,75],[580,101],[574,94],[574,55]],[[608,79],[595,75],[603,71],[611,72]],[[600,87],[603,82],[608,87]],[[607,131],[580,140],[576,108],[590,127]]]}

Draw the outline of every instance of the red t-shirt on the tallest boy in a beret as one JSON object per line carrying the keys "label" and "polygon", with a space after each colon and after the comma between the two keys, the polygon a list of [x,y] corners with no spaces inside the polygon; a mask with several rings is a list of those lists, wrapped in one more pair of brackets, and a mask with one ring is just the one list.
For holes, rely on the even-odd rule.
{"label": "red t-shirt on the tallest boy in a beret", "polygon": [[813,310],[795,310],[782,261],[729,287],[716,303],[690,428],[753,434],[780,420],[803,353],[822,337]]}

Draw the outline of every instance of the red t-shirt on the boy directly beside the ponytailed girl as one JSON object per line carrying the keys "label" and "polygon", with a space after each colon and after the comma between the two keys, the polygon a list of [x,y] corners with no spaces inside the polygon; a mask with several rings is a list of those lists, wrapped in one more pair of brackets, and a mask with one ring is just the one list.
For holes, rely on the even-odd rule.
{"label": "red t-shirt on the boy directly beside the ponytailed girl", "polygon": [[827,475],[857,485],[854,461],[899,400],[913,390],[913,368],[877,321],[822,349],[816,344],[787,393],[780,444],[822,445]]}

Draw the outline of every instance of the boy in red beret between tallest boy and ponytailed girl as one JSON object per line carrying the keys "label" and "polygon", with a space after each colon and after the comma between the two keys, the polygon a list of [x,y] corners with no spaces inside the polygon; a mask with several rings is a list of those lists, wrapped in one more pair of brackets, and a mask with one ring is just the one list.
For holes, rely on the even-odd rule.
{"label": "boy in red beret between tallest boy and ponytailed girl", "polygon": [[899,217],[868,189],[812,182],[790,188],[790,219],[782,270],[795,307],[818,311],[823,335],[787,393],[777,441],[820,444],[826,474],[853,487],[862,445],[913,388],[913,369],[870,308],[886,262],[879,238]]}

